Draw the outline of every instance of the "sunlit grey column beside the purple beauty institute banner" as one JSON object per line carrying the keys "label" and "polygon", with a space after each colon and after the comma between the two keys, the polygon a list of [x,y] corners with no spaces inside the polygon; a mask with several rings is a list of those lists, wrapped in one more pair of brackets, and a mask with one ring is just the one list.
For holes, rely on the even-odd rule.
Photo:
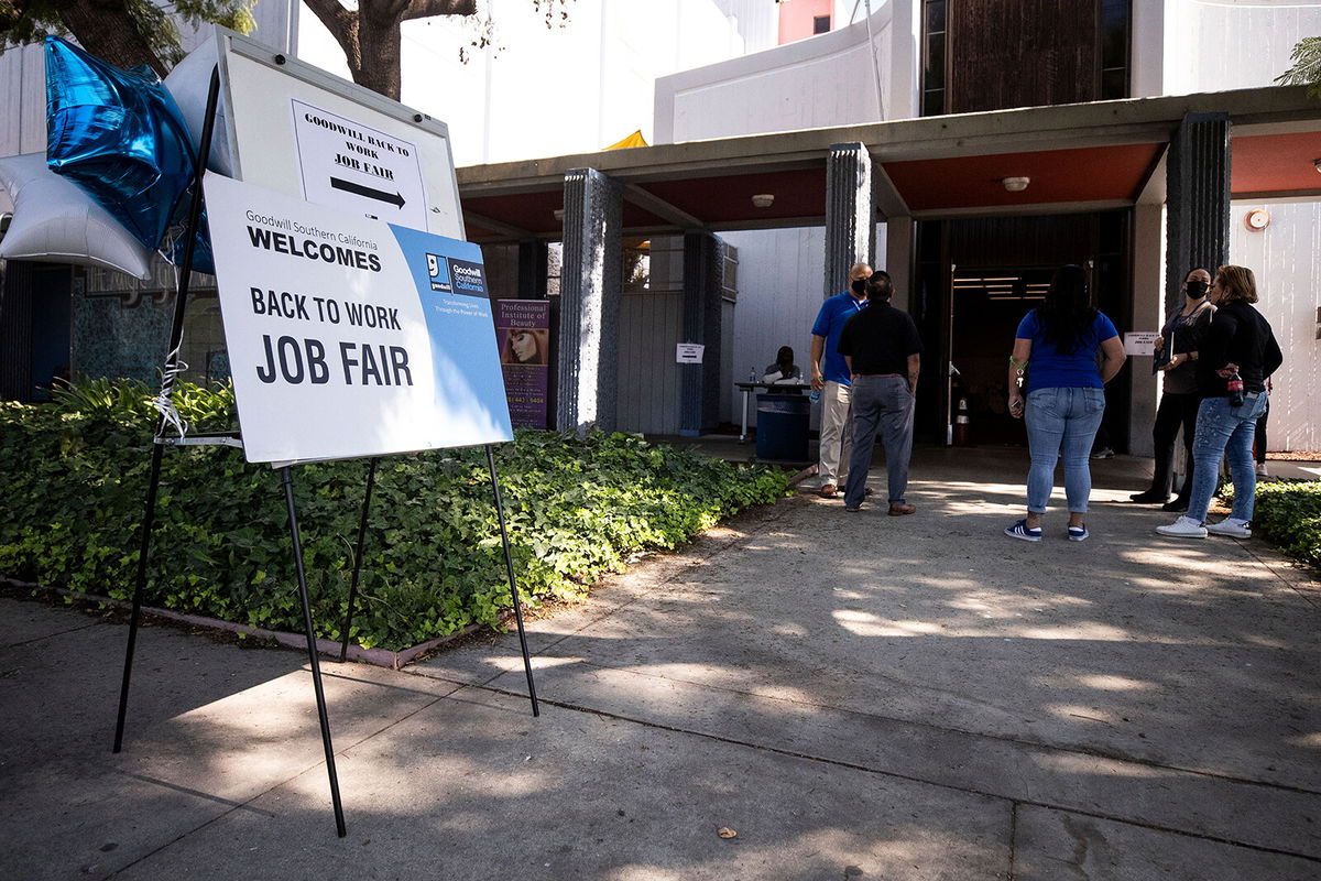
{"label": "sunlit grey column beside the purple beauty institute banner", "polygon": [[620,361],[620,230],[624,188],[592,168],[564,176],[564,265],[555,424],[584,433],[616,428]]}

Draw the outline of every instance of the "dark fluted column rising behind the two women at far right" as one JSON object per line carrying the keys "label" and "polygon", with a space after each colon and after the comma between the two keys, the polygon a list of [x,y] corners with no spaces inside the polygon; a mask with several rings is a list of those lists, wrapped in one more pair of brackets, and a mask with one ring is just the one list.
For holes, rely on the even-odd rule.
{"label": "dark fluted column rising behind the two women at far right", "polygon": [[1166,162],[1165,312],[1182,302],[1192,267],[1211,275],[1230,247],[1230,118],[1189,114],[1170,139]]}

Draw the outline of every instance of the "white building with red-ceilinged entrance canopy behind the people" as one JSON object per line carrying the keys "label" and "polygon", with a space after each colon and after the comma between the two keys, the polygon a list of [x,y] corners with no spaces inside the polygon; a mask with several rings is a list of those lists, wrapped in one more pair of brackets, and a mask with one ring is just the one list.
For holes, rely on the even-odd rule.
{"label": "white building with red-ceilinged entrance canopy behind the people", "polygon": [[[608,185],[601,190],[612,205],[622,199],[618,247],[631,255],[630,265],[645,260],[650,269],[616,273],[605,295],[618,305],[612,313],[617,355],[600,378],[614,387],[610,427],[675,433],[737,423],[734,380],[769,363],[781,345],[806,359],[812,316],[822,297],[838,289],[831,279],[840,258],[827,254],[839,250],[840,232],[828,225],[830,198],[822,193],[834,188],[838,202],[843,190],[831,182],[838,174],[828,170],[835,166],[826,151],[811,159],[794,153],[793,133],[826,131],[827,140],[867,143],[863,165],[872,192],[848,199],[856,217],[871,219],[859,226],[871,229],[851,234],[859,243],[851,246],[852,256],[894,275],[897,304],[913,312],[927,337],[923,382],[934,394],[923,395],[919,412],[926,439],[943,440],[958,398],[976,408],[983,440],[1009,439],[1013,427],[997,411],[1003,353],[1052,267],[1089,265],[1099,302],[1116,324],[1153,330],[1176,296],[1172,277],[1201,248],[1201,262],[1242,263],[1258,272],[1262,309],[1285,342],[1272,449],[1321,448],[1312,416],[1321,404],[1314,391],[1318,267],[1312,256],[1321,252],[1321,209],[1316,185],[1281,184],[1262,170],[1276,156],[1268,156],[1266,135],[1277,144],[1284,123],[1267,129],[1250,110],[1223,120],[1234,132],[1232,170],[1229,152],[1219,165],[1194,169],[1194,182],[1223,178],[1229,188],[1232,198],[1214,207],[1206,193],[1188,198],[1166,192],[1181,180],[1169,170],[1172,159],[1178,162],[1184,155],[1178,102],[1165,102],[1152,115],[1140,100],[1268,86],[1288,67],[1292,46],[1321,33],[1321,4],[580,0],[564,29],[547,29],[513,0],[491,0],[486,9],[495,32],[480,49],[469,45],[477,34],[470,24],[406,25],[403,99],[445,120],[458,164],[470,166],[460,174],[461,185],[468,181],[465,213],[473,206],[469,230],[487,246],[497,296],[550,296],[559,316],[561,283],[579,283],[581,267],[559,268],[559,254],[575,234],[576,221],[565,219],[565,210],[583,193],[571,193],[563,174],[538,177],[528,169],[559,168],[564,162],[555,157],[568,155],[583,165],[609,165],[596,151],[634,129],[658,145],[638,152],[645,159],[634,164],[658,156],[668,169],[668,180],[646,178],[645,169],[621,170],[616,182],[624,181],[622,195],[610,194]],[[807,21],[812,30],[822,28],[823,16],[831,18],[830,30],[798,34]],[[338,48],[305,8],[264,0],[258,20],[258,38],[345,73]],[[466,63],[460,48],[469,50]],[[40,52],[0,55],[0,79],[11,111],[0,118],[0,155],[41,149]],[[1260,92],[1263,100],[1267,94]],[[1094,102],[1116,104],[1106,111]],[[1194,103],[1219,112],[1215,100],[1188,102]],[[1107,112],[1112,119],[1098,122]],[[1137,123],[1123,120],[1139,118],[1157,133],[1132,135]],[[1161,122],[1166,119],[1173,122]],[[1305,152],[1314,135],[1299,125],[1297,149]],[[950,140],[948,132],[966,136]],[[777,133],[783,137],[773,139]],[[760,155],[758,135],[789,152]],[[737,147],[725,149],[725,143]],[[699,165],[684,156],[724,153],[742,157],[741,176],[707,169],[700,174],[711,177],[684,177]],[[519,162],[527,168],[515,173]],[[778,177],[768,176],[770,162],[783,166],[774,172]],[[1016,162],[1030,164],[1033,173],[1021,174]],[[631,168],[624,160],[616,165]],[[523,172],[526,188],[506,186]],[[630,184],[627,174],[639,177]],[[1030,178],[1025,189],[1005,192],[1004,178],[1020,176]],[[775,197],[774,207],[760,214],[746,206],[724,214],[699,207],[703,197],[721,195],[704,189],[733,192],[753,180]],[[590,202],[597,189],[587,192]],[[1263,209],[1271,217],[1267,226],[1243,222]],[[1190,213],[1223,219],[1223,235],[1198,234],[1190,251]],[[44,372],[61,367],[61,350],[71,350],[71,369],[86,372],[149,378],[160,362],[152,341],[164,339],[168,317],[159,292],[166,285],[125,287],[38,264],[7,275],[0,333],[11,334],[8,351],[26,346],[30,357],[22,370],[13,358],[0,367],[5,396],[40,386]],[[67,295],[58,293],[61,285]],[[24,300],[8,295],[15,288],[46,293]],[[52,300],[66,302],[67,314]],[[185,359],[198,366],[196,378],[205,378],[223,370],[218,324],[214,314],[206,317],[205,302],[193,313],[198,326],[190,328],[188,345],[196,351]],[[61,324],[67,338],[49,333]],[[18,326],[26,328],[25,339]],[[694,380],[672,353],[675,343],[697,337],[715,363]],[[560,341],[561,358],[572,362],[575,337],[561,333]],[[956,383],[948,380],[950,365],[959,370]],[[1118,446],[1135,453],[1147,449],[1159,396],[1157,380],[1143,365],[1133,359],[1111,388],[1111,433]],[[15,375],[24,370],[26,375]]]}

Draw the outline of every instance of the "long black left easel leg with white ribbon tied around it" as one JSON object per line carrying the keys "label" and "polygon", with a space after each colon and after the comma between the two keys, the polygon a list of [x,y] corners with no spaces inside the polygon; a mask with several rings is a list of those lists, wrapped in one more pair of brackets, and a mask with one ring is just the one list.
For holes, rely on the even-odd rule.
{"label": "long black left easel leg with white ribbon tied around it", "polygon": [[[178,371],[178,350],[184,343],[184,313],[188,306],[189,276],[193,275],[193,251],[197,246],[197,227],[202,217],[202,174],[206,173],[206,159],[211,153],[211,132],[215,129],[215,104],[221,95],[221,70],[211,70],[211,87],[206,95],[206,124],[194,157],[193,201],[189,205],[188,226],[184,230],[184,262],[174,299],[174,321],[169,333],[169,354],[165,357],[165,375],[161,380],[161,399],[169,400],[174,388],[174,374]],[[168,424],[161,413],[156,424],[156,437],[165,433]],[[156,494],[161,479],[161,456],[164,446],[157,441],[152,445],[152,468],[147,485],[147,510],[143,514],[143,535],[137,549],[137,579],[133,582],[133,610],[128,617],[128,647],[124,651],[124,679],[119,687],[119,716],[115,720],[115,750],[124,745],[124,720],[128,716],[128,684],[133,676],[133,650],[137,646],[137,625],[143,612],[143,594],[147,590],[147,557],[152,547],[152,527],[156,524]]]}

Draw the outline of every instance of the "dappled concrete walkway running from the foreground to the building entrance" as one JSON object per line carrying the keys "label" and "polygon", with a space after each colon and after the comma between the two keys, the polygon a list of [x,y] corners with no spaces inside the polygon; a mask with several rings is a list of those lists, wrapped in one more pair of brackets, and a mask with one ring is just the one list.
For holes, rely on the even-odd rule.
{"label": "dappled concrete walkway running from the foreground to the building entrance", "polygon": [[112,756],[127,629],[0,600],[0,878],[1321,877],[1321,585],[1144,468],[1082,544],[1021,450],[744,515],[531,622],[535,720],[513,635],[324,660],[342,840],[305,656],[144,629]]}

